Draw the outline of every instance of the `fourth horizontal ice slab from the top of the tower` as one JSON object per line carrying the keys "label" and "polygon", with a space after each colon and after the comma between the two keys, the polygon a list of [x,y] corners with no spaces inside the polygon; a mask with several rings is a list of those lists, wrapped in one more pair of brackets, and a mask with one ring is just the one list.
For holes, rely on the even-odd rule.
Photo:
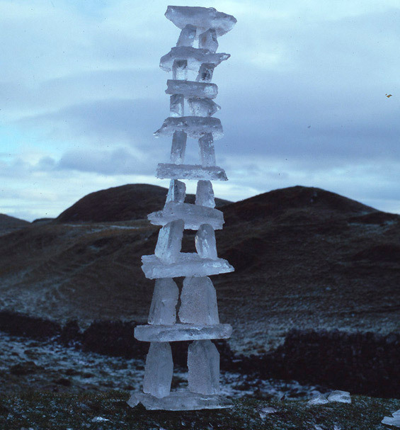
{"label": "fourth horizontal ice slab from the top of the tower", "polygon": [[161,128],[154,132],[154,136],[170,136],[176,131],[183,131],[193,139],[199,139],[205,133],[212,133],[214,140],[221,139],[224,135],[221,121],[218,118],[183,116],[181,118],[166,118]]}

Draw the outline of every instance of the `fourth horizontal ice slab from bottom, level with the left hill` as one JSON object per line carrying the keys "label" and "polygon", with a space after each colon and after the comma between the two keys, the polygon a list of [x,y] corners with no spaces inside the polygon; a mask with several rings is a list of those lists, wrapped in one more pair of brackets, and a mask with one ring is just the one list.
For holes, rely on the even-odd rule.
{"label": "fourth horizontal ice slab from bottom, level with the left hill", "polygon": [[214,230],[221,230],[224,224],[224,214],[220,210],[190,203],[168,202],[163,210],[150,213],[147,218],[153,225],[166,225],[176,219],[183,220],[185,230],[198,230],[205,222]]}

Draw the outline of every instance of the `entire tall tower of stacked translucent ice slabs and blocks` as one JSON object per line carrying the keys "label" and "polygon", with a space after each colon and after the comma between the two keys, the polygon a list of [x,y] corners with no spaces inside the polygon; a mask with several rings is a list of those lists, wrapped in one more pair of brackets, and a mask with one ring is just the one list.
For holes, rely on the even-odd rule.
{"label": "entire tall tower of stacked translucent ice slabs and blocks", "polygon": [[[165,15],[181,28],[176,47],[161,58],[161,69],[172,72],[166,89],[170,116],[154,133],[172,136],[170,163],[157,168],[157,177],[171,181],[164,208],[149,214],[161,230],[154,254],[142,256],[142,270],[156,281],[149,324],[136,327],[135,337],[150,342],[150,348],[143,392],[134,393],[129,404],[142,402],[147,409],[170,410],[229,407],[230,402],[219,395],[219,353],[212,343],[212,339],[227,339],[232,327],[219,324],[217,295],[209,276],[234,268],[218,258],[215,242],[215,230],[222,229],[224,217],[215,209],[211,181],[227,181],[227,176],[215,164],[214,141],[222,137],[222,125],[212,117],[219,106],[213,100],[218,88],[211,80],[215,67],[229,58],[216,52],[217,38],[231,30],[236,19],[213,8],[188,6],[168,6]],[[190,74],[195,80],[188,79]],[[188,137],[198,140],[199,164],[184,164]],[[182,179],[198,181],[194,205],[185,203]],[[185,229],[197,231],[197,252],[181,252]],[[177,322],[179,289],[173,278],[178,277],[183,277],[183,288]],[[171,392],[172,341],[192,341],[188,390]]]}

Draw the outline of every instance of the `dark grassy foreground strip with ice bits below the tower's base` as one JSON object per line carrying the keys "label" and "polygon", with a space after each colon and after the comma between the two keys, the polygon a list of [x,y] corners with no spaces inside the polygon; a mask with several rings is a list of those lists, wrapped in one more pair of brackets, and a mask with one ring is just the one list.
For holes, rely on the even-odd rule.
{"label": "dark grassy foreground strip with ice bits below the tower's base", "polygon": [[[240,399],[234,400],[232,409],[165,412],[147,411],[141,405],[132,409],[126,403],[128,397],[122,391],[3,396],[0,429],[383,430],[387,429],[380,424],[383,417],[400,409],[400,400],[353,396],[352,404],[308,406],[305,400]],[[258,411],[265,406],[278,412],[262,419]]]}

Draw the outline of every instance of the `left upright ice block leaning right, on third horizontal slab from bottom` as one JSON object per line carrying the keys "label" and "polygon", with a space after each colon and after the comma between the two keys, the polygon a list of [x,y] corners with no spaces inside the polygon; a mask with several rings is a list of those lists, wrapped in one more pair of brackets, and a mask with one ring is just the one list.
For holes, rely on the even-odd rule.
{"label": "left upright ice block leaning right, on third horizontal slab from bottom", "polygon": [[[154,254],[165,264],[172,264],[179,256],[182,246],[183,220],[175,220],[164,225],[159,232]],[[159,276],[173,278],[173,276]]]}

